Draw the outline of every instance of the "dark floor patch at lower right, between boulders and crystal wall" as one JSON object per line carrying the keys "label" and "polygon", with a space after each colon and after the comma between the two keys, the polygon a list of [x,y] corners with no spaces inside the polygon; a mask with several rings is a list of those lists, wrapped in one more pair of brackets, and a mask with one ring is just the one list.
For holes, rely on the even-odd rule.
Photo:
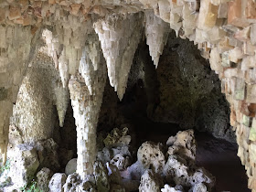
{"label": "dark floor patch at lower right, between boulders and crystal wall", "polygon": [[216,176],[216,191],[247,192],[247,176],[240,165],[236,144],[197,133],[197,165]]}

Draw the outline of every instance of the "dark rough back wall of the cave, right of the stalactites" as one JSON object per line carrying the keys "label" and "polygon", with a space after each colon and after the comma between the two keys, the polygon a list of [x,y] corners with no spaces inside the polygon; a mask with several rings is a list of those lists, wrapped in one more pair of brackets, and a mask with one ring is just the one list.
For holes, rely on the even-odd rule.
{"label": "dark rough back wall of the cave, right of the stalactites", "polygon": [[171,33],[156,71],[160,98],[154,103],[155,111],[148,112],[153,113],[151,119],[183,128],[196,126],[235,142],[229,104],[220,91],[218,76],[192,43]]}

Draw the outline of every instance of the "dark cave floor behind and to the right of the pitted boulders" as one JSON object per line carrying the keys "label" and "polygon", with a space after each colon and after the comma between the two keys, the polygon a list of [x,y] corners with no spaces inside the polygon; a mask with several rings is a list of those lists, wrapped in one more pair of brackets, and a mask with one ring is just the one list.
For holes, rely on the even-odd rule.
{"label": "dark cave floor behind and to the right of the pitted boulders", "polygon": [[[153,123],[142,116],[134,117],[133,124],[138,130],[137,144],[144,141],[165,143],[169,136],[175,135],[179,127],[171,123]],[[197,141],[197,165],[204,166],[216,176],[214,191],[247,192],[247,176],[244,166],[237,156],[237,144],[217,139],[208,133],[195,133]]]}

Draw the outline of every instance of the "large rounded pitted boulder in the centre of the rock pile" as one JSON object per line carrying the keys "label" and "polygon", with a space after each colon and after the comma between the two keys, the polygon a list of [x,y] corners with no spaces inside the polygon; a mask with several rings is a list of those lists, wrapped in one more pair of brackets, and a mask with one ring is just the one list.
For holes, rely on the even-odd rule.
{"label": "large rounded pitted boulder in the centre of the rock pile", "polygon": [[151,168],[155,173],[161,173],[165,166],[165,155],[162,147],[162,144],[145,142],[138,149],[138,161],[144,168]]}

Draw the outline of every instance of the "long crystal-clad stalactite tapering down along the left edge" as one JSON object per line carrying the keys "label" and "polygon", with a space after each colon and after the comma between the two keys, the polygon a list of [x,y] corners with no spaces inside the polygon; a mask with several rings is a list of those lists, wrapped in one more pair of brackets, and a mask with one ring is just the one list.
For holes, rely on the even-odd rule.
{"label": "long crystal-clad stalactite tapering down along the left edge", "polygon": [[[38,36],[37,30],[37,36]],[[6,159],[8,144],[9,117],[13,103],[27,71],[29,58],[35,52],[37,36],[31,33],[31,27],[0,26],[0,151]]]}

